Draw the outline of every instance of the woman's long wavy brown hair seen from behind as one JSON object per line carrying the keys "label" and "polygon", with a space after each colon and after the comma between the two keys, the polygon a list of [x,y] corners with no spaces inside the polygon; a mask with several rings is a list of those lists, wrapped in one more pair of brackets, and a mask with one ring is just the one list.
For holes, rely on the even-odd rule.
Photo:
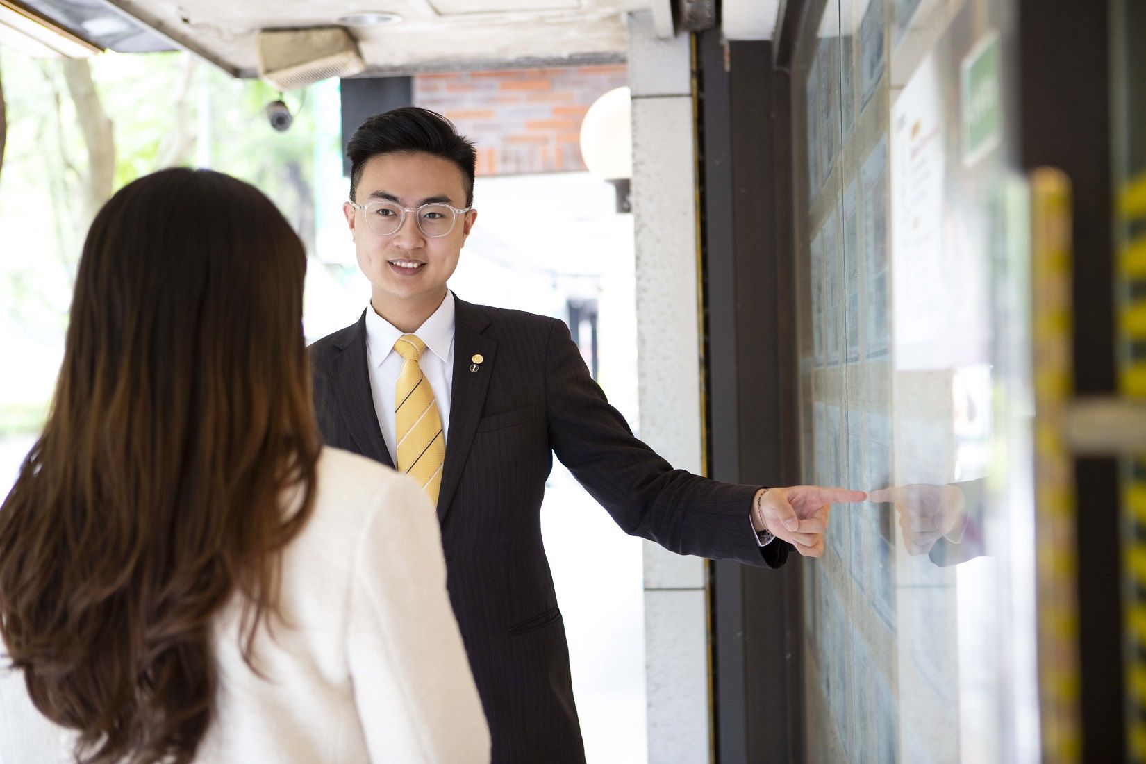
{"label": "woman's long wavy brown hair seen from behind", "polygon": [[305,270],[270,200],[215,172],[142,178],[92,225],[52,410],[0,507],[0,636],[78,759],[190,762],[213,619],[243,597],[251,663],[277,613],[320,448]]}

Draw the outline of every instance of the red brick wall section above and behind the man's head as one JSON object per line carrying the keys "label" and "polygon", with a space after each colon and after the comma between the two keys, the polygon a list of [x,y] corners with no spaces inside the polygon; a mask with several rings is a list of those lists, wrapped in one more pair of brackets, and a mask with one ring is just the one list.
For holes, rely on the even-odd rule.
{"label": "red brick wall section above and behind the man's head", "polygon": [[414,103],[477,144],[479,175],[573,172],[584,112],[627,84],[623,64],[418,74]]}

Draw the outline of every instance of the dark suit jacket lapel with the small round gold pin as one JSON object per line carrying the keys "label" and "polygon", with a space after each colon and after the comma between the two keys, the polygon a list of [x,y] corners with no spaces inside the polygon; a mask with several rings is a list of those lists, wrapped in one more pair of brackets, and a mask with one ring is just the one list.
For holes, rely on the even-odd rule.
{"label": "dark suit jacket lapel with the small round gold pin", "polygon": [[[497,342],[481,332],[489,318],[480,308],[454,297],[454,384],[449,401],[449,438],[446,441],[446,462],[441,471],[438,494],[438,518],[445,521],[449,504],[457,490],[462,471],[473,444],[473,433],[481,419],[489,377],[493,372]],[[480,355],[477,371],[470,371],[473,356]]]}

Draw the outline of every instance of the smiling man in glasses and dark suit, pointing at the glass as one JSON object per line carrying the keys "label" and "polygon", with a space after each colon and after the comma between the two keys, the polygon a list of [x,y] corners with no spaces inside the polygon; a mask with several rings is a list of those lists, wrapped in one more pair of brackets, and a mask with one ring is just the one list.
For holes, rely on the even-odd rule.
{"label": "smiling man in glasses and dark suit, pointing at the glass", "polygon": [[541,541],[554,454],[626,533],[747,565],[778,567],[793,546],[818,557],[830,504],[864,494],[674,470],[633,436],[563,322],[447,289],[477,220],[473,145],[448,120],[416,108],[372,117],[347,155],[344,210],[372,293],[358,322],[311,347],[319,425],[437,501],[494,762],[583,762]]}

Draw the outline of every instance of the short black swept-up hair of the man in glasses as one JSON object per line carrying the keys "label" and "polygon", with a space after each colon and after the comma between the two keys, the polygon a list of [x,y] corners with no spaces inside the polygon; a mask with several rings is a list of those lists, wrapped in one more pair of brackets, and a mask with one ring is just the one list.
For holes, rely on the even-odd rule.
{"label": "short black swept-up hair of the man in glasses", "polygon": [[435,111],[402,107],[370,117],[346,143],[351,160],[351,200],[358,191],[366,163],[384,153],[429,153],[457,165],[465,178],[465,206],[473,204],[473,173],[478,152],[457,134],[454,123]]}

